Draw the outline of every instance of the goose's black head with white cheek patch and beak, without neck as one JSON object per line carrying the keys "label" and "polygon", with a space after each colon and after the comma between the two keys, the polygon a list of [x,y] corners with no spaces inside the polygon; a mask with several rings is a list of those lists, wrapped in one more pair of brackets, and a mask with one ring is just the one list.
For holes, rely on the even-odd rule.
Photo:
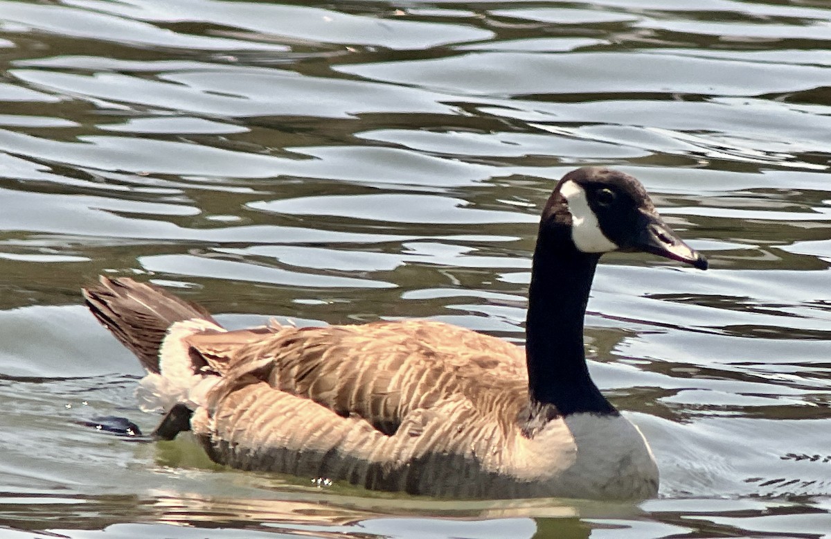
{"label": "goose's black head with white cheek patch and beak, without neck", "polygon": [[620,171],[584,167],[563,176],[541,225],[568,231],[586,254],[642,251],[707,269],[706,258],[661,219],[641,182]]}

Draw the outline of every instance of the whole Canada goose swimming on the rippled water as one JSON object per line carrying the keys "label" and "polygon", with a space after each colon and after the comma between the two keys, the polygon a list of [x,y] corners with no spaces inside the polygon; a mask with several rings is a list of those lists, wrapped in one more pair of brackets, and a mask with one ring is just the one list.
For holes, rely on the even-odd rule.
{"label": "whole Canada goose swimming on the rippled water", "polygon": [[191,429],[216,462],[442,497],[643,499],[658,488],[640,431],[589,376],[583,316],[602,253],[706,269],[632,176],[581,168],[543,209],[523,350],[428,320],[226,331],[152,284],[84,289],[138,356],[156,434]]}

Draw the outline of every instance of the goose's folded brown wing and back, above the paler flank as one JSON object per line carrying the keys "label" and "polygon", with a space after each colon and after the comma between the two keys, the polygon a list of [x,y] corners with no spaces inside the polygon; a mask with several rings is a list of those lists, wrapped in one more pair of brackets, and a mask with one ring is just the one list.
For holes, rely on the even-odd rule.
{"label": "goose's folded brown wing and back, above the paler flank", "polygon": [[500,422],[515,418],[526,400],[522,349],[440,322],[273,326],[196,334],[188,344],[226,383],[265,381],[387,435],[408,413],[446,398],[464,396]]}

